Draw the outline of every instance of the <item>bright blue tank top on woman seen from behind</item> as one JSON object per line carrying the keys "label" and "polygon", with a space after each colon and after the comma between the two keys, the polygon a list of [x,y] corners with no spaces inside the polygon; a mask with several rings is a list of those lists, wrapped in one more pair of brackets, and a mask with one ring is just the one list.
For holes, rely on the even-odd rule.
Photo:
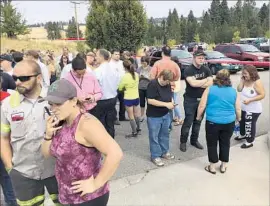
{"label": "bright blue tank top on woman seen from behind", "polygon": [[206,105],[206,120],[217,124],[235,121],[236,97],[236,90],[232,87],[211,86]]}

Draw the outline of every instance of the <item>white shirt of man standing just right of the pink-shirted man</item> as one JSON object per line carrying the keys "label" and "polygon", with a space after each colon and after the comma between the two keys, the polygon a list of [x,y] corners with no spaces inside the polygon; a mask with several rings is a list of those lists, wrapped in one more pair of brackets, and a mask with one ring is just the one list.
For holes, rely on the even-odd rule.
{"label": "white shirt of man standing just right of the pink-shirted man", "polygon": [[103,62],[94,70],[97,80],[102,89],[101,100],[112,99],[117,96],[117,89],[120,83],[118,71],[110,66],[108,62]]}

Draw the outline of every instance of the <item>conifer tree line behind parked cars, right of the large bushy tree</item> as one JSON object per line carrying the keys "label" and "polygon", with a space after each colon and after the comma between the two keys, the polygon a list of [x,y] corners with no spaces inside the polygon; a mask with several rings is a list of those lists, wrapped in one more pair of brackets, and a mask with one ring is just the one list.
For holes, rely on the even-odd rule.
{"label": "conifer tree line behind parked cars, right of the large bushy tree", "polygon": [[225,43],[232,42],[237,35],[241,38],[270,38],[269,3],[257,8],[255,0],[238,0],[229,8],[227,0],[213,0],[201,18],[195,18],[192,10],[187,17],[179,17],[177,10],[173,9],[162,21],[149,19],[145,44],[160,45],[168,40],[177,44]]}

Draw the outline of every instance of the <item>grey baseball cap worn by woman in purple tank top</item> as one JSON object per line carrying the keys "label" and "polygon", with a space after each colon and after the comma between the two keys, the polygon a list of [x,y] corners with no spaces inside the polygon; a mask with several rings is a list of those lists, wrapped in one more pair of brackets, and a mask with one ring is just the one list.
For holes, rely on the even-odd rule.
{"label": "grey baseball cap worn by woman in purple tank top", "polygon": [[66,79],[60,79],[51,84],[47,96],[41,100],[54,104],[63,104],[65,101],[77,97],[75,86]]}

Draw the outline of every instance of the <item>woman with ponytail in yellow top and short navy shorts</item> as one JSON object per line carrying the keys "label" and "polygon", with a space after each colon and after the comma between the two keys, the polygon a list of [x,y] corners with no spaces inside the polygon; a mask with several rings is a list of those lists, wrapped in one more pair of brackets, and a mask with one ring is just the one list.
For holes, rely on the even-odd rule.
{"label": "woman with ponytail in yellow top and short navy shorts", "polygon": [[124,91],[124,104],[130,121],[132,133],[126,138],[137,137],[140,128],[140,99],[139,99],[139,75],[135,72],[135,66],[129,61],[123,62],[125,75],[119,84],[119,91]]}

